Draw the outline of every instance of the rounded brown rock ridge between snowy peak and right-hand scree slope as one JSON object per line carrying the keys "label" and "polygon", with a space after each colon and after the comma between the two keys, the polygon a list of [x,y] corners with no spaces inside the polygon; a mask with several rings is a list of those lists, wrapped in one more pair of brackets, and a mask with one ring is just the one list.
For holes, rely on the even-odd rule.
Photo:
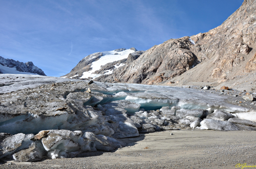
{"label": "rounded brown rock ridge between snowy peak and right-hand scree slope", "polygon": [[190,49],[196,50],[189,37],[170,39],[145,51],[126,66],[113,71],[107,77],[96,78],[103,82],[128,82],[156,84],[181,75],[199,61]]}

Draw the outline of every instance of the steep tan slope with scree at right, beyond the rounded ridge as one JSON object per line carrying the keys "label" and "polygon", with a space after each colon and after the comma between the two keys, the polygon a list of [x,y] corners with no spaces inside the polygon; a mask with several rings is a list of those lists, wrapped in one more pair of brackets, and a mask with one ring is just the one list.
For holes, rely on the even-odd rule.
{"label": "steep tan slope with scree at right, beyond the rounded ridge", "polygon": [[180,81],[180,85],[209,81],[219,86],[255,90],[255,11],[256,1],[244,0],[219,27],[191,36],[200,46],[195,54],[203,61],[173,81]]}

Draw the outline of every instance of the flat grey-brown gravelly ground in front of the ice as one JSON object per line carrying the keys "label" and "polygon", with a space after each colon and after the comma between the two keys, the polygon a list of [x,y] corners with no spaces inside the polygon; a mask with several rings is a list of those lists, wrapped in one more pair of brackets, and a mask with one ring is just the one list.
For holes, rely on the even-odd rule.
{"label": "flat grey-brown gravelly ground in front of the ice", "polygon": [[[170,135],[173,133],[173,135]],[[86,152],[73,159],[39,162],[1,161],[0,168],[236,168],[256,165],[255,131],[179,130],[141,133],[120,139],[127,147],[114,152]],[[147,149],[144,149],[148,147]],[[12,162],[11,165],[8,163]],[[238,167],[239,168],[239,167]]]}

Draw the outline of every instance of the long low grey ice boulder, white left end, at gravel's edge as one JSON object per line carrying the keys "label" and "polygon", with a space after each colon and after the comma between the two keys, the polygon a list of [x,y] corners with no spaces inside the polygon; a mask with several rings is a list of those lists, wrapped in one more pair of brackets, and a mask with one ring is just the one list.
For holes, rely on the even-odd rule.
{"label": "long low grey ice boulder, white left end, at gravel's edge", "polygon": [[204,119],[201,123],[201,128],[206,130],[218,130],[218,131],[229,131],[238,130],[235,124],[228,121],[219,121],[214,119]]}

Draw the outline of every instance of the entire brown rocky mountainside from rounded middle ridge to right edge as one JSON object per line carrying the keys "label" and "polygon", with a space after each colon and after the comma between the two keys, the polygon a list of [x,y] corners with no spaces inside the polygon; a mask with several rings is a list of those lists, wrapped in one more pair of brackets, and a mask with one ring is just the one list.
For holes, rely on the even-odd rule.
{"label": "entire brown rocky mountainside from rounded middle ridge to right edge", "polygon": [[219,27],[155,45],[111,75],[96,80],[162,85],[202,81],[216,86],[231,85],[233,79],[245,76],[252,78],[256,70],[255,8],[256,1],[244,0]]}

